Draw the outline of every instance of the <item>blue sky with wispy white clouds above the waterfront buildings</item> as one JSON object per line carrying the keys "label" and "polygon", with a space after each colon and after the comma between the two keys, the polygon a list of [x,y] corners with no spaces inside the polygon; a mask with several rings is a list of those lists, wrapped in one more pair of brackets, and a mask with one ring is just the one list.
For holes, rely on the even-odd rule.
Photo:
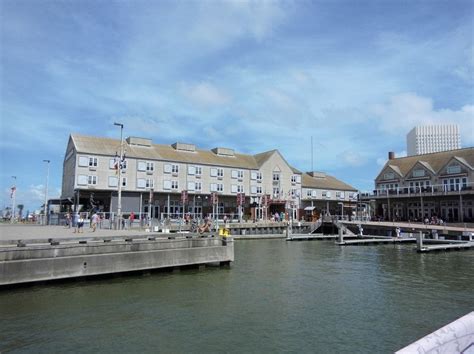
{"label": "blue sky with wispy white clouds above the waterfront buildings", "polygon": [[39,209],[48,165],[59,197],[69,135],[114,122],[371,190],[415,125],[474,146],[473,21],[471,0],[0,0],[0,209],[12,176]]}

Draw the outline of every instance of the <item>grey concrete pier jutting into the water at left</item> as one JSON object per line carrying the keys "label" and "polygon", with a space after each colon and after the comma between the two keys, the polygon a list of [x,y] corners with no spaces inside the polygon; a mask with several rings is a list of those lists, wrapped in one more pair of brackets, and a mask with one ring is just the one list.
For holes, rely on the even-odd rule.
{"label": "grey concrete pier jutting into the water at left", "polygon": [[234,261],[233,239],[212,235],[7,241],[2,240],[0,245],[0,286]]}

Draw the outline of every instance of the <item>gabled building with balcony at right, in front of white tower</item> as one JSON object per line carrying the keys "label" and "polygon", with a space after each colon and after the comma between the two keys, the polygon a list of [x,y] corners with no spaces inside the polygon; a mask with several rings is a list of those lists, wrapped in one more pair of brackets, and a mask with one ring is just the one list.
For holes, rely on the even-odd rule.
{"label": "gabled building with balcony at right, in front of white tower", "polygon": [[383,220],[474,221],[474,148],[395,158],[361,199]]}

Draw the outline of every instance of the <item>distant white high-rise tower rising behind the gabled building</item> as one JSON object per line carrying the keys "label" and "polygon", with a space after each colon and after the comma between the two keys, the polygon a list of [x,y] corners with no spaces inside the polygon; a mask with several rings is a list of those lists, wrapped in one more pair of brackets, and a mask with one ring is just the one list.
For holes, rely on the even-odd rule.
{"label": "distant white high-rise tower rising behind the gabled building", "polygon": [[457,124],[419,125],[407,134],[408,156],[461,148]]}

